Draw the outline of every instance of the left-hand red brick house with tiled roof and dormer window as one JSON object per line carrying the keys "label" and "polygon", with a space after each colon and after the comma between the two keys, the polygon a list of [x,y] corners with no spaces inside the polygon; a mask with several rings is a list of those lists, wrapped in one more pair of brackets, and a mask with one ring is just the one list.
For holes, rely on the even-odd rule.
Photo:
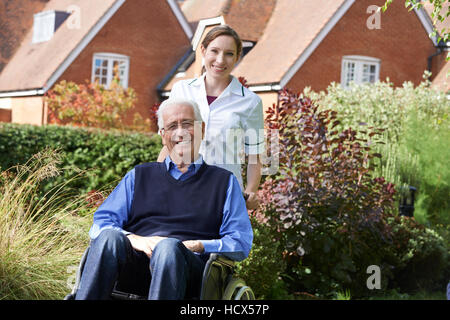
{"label": "left-hand red brick house with tiled roof and dormer window", "polygon": [[113,67],[149,117],[192,37],[175,0],[6,0],[0,25],[0,121],[31,124],[46,123],[43,95],[55,83],[108,86]]}

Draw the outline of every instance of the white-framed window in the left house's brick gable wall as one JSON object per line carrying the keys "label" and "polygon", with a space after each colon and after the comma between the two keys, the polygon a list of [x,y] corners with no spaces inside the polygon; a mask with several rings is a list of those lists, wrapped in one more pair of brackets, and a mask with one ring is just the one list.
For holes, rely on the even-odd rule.
{"label": "white-framed window in the left house's brick gable wall", "polygon": [[114,76],[119,77],[120,85],[128,87],[128,70],[130,58],[121,54],[114,53],[96,53],[92,63],[92,82],[98,83],[109,88]]}

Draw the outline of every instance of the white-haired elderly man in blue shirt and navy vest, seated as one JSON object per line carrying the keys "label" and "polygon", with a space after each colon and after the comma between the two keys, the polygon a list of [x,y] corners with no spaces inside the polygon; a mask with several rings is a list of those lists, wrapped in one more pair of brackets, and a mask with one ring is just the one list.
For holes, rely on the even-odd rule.
{"label": "white-haired elderly man in blue shirt and navy vest, seated", "polygon": [[245,259],[253,232],[236,177],[206,164],[204,124],[195,102],[164,101],[158,125],[169,155],[136,166],[94,214],[76,299],[122,291],[149,299],[199,296],[210,253]]}

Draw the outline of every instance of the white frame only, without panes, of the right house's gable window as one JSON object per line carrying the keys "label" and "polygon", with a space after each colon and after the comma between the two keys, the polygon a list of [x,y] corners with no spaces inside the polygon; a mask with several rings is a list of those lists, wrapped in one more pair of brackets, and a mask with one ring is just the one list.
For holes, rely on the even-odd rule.
{"label": "white frame only, without panes, of the right house's gable window", "polygon": [[355,84],[362,83],[371,83],[371,81],[364,81],[363,73],[364,73],[364,65],[375,66],[374,72],[374,81],[377,82],[380,80],[380,64],[381,60],[373,57],[366,56],[343,56],[341,63],[341,85],[344,88],[348,88],[348,63],[354,64],[354,78],[350,82],[354,82]]}

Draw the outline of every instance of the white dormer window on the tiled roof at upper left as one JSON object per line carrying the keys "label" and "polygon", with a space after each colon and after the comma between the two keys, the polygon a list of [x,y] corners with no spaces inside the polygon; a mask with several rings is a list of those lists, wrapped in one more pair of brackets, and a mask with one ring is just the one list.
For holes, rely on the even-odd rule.
{"label": "white dormer window on the tiled roof at upper left", "polygon": [[67,19],[65,11],[43,11],[34,15],[33,43],[49,41],[56,29]]}

